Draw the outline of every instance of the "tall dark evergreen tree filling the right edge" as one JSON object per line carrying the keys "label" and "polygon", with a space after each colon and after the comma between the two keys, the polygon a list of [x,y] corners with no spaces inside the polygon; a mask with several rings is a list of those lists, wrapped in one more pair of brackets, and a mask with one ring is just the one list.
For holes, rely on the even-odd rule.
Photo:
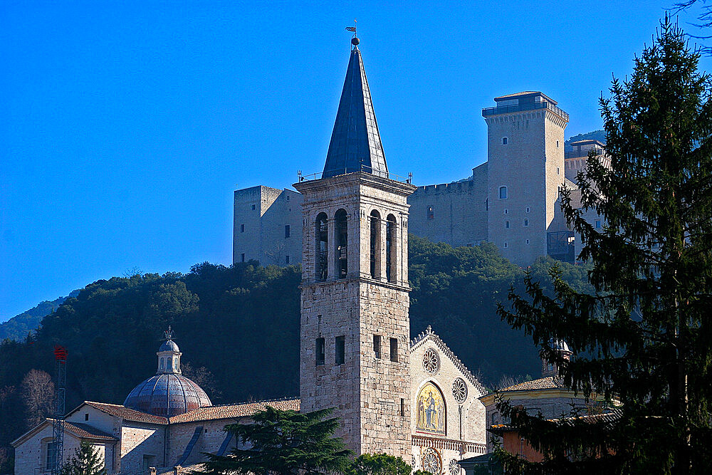
{"label": "tall dark evergreen tree filling the right edge", "polygon": [[[503,416],[545,455],[540,464],[501,453],[523,473],[708,473],[712,466],[712,102],[699,51],[669,18],[636,58],[631,78],[601,100],[610,167],[590,156],[562,209],[592,262],[592,295],[553,268],[554,296],[532,276],[528,297],[499,309],[523,329],[565,384],[619,412],[599,424],[548,422],[501,402]],[[583,211],[605,219],[595,229]],[[557,357],[550,341],[577,355]],[[575,414],[572,414],[575,416]]]}

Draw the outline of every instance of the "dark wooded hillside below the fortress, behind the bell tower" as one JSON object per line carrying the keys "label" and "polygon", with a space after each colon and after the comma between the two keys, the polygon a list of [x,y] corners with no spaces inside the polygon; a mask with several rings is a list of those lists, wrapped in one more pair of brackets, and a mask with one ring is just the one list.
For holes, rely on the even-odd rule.
{"label": "dark wooded hillside below the fortress, behind the bell tower", "polygon": [[[550,259],[532,268],[545,280]],[[524,271],[496,246],[453,248],[410,237],[411,331],[432,325],[485,384],[537,375],[536,350],[496,315]],[[562,264],[585,287],[583,266]],[[197,264],[190,273],[113,277],[91,283],[42,320],[33,338],[0,345],[0,447],[26,429],[20,386],[35,368],[53,373],[53,345],[69,351],[67,408],[82,400],[121,404],[155,372],[162,330],[172,325],[184,368],[214,404],[298,394],[300,269],[256,262]]]}

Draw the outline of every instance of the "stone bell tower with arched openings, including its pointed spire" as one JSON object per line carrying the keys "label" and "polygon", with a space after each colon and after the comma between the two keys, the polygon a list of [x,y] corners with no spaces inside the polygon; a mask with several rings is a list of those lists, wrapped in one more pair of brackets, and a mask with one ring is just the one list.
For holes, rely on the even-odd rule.
{"label": "stone bell tower with arched openings, including its pointed spire", "polygon": [[389,178],[352,38],[324,172],[303,195],[301,410],[333,407],[356,454],[409,460],[408,204]]}

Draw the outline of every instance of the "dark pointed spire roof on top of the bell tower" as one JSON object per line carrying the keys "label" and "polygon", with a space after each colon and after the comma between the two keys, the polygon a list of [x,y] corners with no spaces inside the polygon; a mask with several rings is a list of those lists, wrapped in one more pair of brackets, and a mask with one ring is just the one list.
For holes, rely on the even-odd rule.
{"label": "dark pointed spire roof on top of the bell tower", "polygon": [[331,134],[323,178],[351,172],[369,172],[388,177],[381,136],[373,113],[371,93],[363,70],[358,38],[352,41],[349,68]]}

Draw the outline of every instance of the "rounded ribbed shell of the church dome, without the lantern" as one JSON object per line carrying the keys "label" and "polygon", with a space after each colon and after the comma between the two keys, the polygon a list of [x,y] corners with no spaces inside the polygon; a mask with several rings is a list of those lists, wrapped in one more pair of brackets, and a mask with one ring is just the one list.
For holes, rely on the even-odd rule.
{"label": "rounded ribbed shell of the church dome, without the lantern", "polygon": [[124,401],[125,407],[161,417],[173,417],[211,405],[210,398],[199,385],[172,372],[148,378]]}

